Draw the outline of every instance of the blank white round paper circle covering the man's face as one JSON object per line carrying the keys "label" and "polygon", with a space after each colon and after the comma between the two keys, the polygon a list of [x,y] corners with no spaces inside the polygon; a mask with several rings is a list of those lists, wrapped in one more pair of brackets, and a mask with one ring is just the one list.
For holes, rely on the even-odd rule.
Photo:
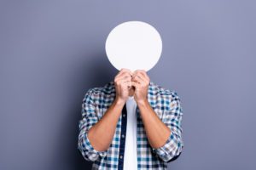
{"label": "blank white round paper circle covering the man's face", "polygon": [[148,23],[128,21],[113,28],[105,44],[110,63],[117,69],[149,71],[160,59],[160,33]]}

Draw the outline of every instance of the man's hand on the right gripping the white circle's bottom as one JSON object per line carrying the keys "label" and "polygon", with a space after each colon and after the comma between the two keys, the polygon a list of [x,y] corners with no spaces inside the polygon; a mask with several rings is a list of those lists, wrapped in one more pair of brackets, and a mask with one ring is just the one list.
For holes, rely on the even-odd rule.
{"label": "man's hand on the right gripping the white circle's bottom", "polygon": [[135,87],[134,99],[137,104],[144,104],[148,101],[148,85],[150,79],[144,70],[134,71],[131,78],[131,86]]}

